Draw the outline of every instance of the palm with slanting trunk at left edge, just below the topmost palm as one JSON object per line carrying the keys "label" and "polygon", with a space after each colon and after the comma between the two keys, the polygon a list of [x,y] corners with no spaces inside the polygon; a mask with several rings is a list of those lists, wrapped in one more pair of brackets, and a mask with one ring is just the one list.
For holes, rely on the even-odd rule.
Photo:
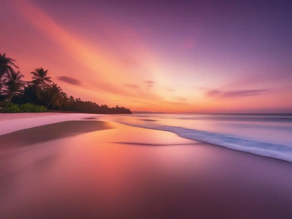
{"label": "palm with slanting trunk at left edge, just below the topmost palm", "polygon": [[[20,96],[23,93],[24,88],[27,85],[27,81],[22,80],[23,77],[24,76],[23,74],[21,74],[20,71],[15,72],[13,69],[5,74],[5,83],[2,88],[2,93],[7,96],[4,100],[8,100],[8,102],[6,103],[2,111],[4,111],[4,109],[11,102],[13,96]],[[3,102],[4,100],[2,100],[1,102]]]}

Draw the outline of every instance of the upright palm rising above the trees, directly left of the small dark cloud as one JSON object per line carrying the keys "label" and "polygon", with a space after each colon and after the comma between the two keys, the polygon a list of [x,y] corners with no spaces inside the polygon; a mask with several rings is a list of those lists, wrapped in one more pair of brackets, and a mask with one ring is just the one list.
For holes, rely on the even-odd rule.
{"label": "upright palm rising above the trees, directly left of the small dark cloud", "polygon": [[32,84],[35,86],[35,92],[37,98],[41,99],[40,92],[48,86],[48,84],[52,83],[52,78],[48,77],[48,70],[44,70],[43,68],[36,68],[34,72],[30,72],[33,75]]}

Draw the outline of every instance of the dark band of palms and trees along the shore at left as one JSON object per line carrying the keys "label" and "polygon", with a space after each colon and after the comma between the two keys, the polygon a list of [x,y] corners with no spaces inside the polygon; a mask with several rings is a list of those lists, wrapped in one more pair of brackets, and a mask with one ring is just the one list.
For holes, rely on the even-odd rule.
{"label": "dark band of palms and trees along the shore at left", "polygon": [[36,68],[31,81],[25,81],[16,62],[0,53],[0,112],[45,112],[61,110],[95,114],[132,114],[130,108],[106,104],[68,96],[60,86],[48,76],[48,70]]}

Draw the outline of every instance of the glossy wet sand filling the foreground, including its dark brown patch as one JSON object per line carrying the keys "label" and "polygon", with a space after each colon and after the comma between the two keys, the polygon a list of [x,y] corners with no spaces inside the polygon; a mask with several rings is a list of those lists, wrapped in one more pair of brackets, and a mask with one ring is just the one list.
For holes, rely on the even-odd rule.
{"label": "glossy wet sand filling the foreground, including its dark brown patch", "polygon": [[61,122],[0,136],[0,218],[292,218],[291,173],[169,132]]}

